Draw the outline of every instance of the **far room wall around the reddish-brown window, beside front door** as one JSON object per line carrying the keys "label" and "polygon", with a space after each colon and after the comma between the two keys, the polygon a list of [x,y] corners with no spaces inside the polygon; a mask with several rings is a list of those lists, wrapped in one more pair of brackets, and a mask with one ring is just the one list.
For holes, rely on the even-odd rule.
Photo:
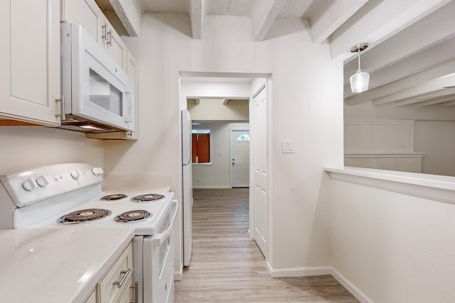
{"label": "far room wall around the reddish-brown window, beside front door", "polygon": [[210,129],[210,164],[193,164],[193,188],[230,188],[230,130],[250,129],[248,123],[201,123]]}

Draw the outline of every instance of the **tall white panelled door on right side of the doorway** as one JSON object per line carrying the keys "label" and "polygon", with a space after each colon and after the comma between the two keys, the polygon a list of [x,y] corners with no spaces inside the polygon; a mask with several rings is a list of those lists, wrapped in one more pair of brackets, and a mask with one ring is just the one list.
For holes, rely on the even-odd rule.
{"label": "tall white panelled door on right side of the doorway", "polygon": [[252,228],[253,239],[267,259],[268,243],[268,123],[267,82],[252,96]]}

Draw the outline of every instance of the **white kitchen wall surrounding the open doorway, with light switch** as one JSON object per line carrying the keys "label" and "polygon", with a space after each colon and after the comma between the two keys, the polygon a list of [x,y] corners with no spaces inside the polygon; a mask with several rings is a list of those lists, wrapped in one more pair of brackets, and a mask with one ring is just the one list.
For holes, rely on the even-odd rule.
{"label": "white kitchen wall surrounding the open doorway, with light switch", "polygon": [[[284,269],[327,265],[323,167],[343,166],[343,62],[331,61],[328,45],[312,43],[301,20],[287,21],[299,31],[263,42],[253,41],[249,18],[208,16],[210,31],[202,40],[191,38],[188,22],[187,16],[146,13],[141,36],[125,39],[139,65],[139,140],[105,144],[109,172],[170,175],[180,196],[179,72],[272,73],[269,261]],[[296,153],[282,154],[282,140],[294,140]]]}

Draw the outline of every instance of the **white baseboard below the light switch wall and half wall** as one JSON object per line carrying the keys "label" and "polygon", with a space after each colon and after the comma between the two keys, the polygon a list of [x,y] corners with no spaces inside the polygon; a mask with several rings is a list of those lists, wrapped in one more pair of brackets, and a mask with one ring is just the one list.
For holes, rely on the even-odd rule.
{"label": "white baseboard below the light switch wall and half wall", "polygon": [[267,270],[271,277],[309,277],[313,275],[331,275],[343,287],[348,290],[356,299],[362,303],[374,303],[365,293],[350,282],[346,277],[331,266],[314,266],[305,268],[280,268],[274,269],[270,263],[266,262]]}

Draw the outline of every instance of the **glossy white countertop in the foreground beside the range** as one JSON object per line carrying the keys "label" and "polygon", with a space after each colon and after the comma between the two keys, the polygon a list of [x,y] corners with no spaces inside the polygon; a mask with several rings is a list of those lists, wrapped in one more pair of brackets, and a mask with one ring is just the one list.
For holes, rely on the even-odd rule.
{"label": "glossy white countertop in the foreground beside the range", "polygon": [[84,302],[133,236],[129,228],[0,231],[0,300]]}

